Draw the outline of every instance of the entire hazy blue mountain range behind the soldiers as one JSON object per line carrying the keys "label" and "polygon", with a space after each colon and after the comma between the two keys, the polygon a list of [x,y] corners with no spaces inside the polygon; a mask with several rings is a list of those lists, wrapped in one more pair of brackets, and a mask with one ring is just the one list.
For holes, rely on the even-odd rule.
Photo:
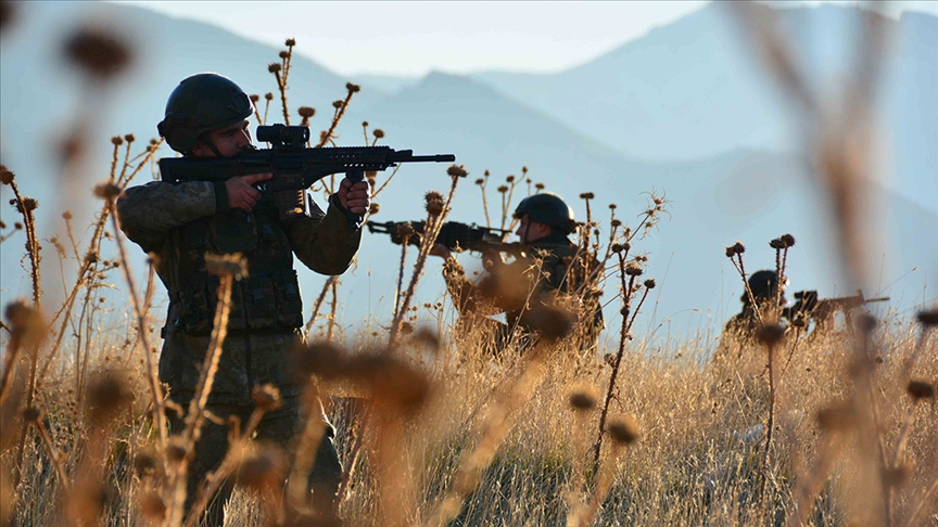
{"label": "entire hazy blue mountain range behind the soldiers", "polygon": [[[62,208],[89,217],[90,207],[81,205],[97,207],[90,189],[106,178],[107,138],[155,136],[165,99],[181,78],[216,70],[249,93],[276,88],[266,65],[279,50],[211,25],[118,4],[21,5],[16,25],[0,36],[0,158],[42,204],[43,232],[61,229]],[[807,64],[825,72],[825,64],[837,63],[835,43],[846,48],[844,28],[857,16],[853,9],[823,7],[785,10],[784,20]],[[62,38],[86,23],[110,24],[135,49],[131,70],[97,90],[64,66],[60,52]],[[889,295],[896,309],[907,309],[934,299],[927,286],[938,279],[938,18],[907,13],[889,24],[898,36],[898,61],[884,83],[883,114],[895,163],[876,183],[864,218],[876,254],[883,254],[879,291],[866,293]],[[735,27],[722,8],[711,5],[560,74],[347,79],[363,90],[353,98],[338,142],[360,143],[367,120],[385,130],[382,142],[393,147],[456,154],[470,171],[453,204],[452,219],[459,221],[484,222],[472,182],[486,169],[493,219],[499,216],[498,196],[491,188],[508,175],[520,178],[522,167],[532,181],[565,196],[579,218],[585,207],[576,196],[584,192],[597,196],[594,215],[606,218],[607,205],[614,203],[626,224],[636,222],[648,192],[666,195],[670,214],[635,243],[648,253],[647,275],[660,284],[643,319],[649,330],[667,323],[669,334],[694,333],[701,323],[719,325],[736,309],[741,286],[723,255],[723,246],[736,240],[751,247],[747,266],[755,270],[774,265],[768,241],[790,232],[798,241],[789,257],[793,287],[851,294],[837,286],[844,277],[836,232],[810,160],[795,147],[790,112]],[[819,90],[834,86],[817,76]],[[345,81],[309,57],[294,57],[288,97],[294,110],[317,107],[314,134],[326,127],[331,101],[344,97]],[[278,108],[271,105],[269,121],[282,120]],[[51,154],[76,121],[93,143],[84,169],[63,175]],[[406,166],[378,196],[381,210],[373,219],[420,219],[422,193],[448,184],[443,166]],[[527,192],[525,185],[516,191]],[[4,200],[8,194],[0,189]],[[0,209],[7,223],[14,214]],[[15,239],[2,245],[3,304],[28,291],[21,246]],[[462,258],[469,267],[474,262]],[[357,268],[343,278],[343,322],[386,323],[398,259],[400,248],[386,239],[365,235]],[[137,264],[142,270],[142,255]],[[428,267],[418,301],[443,296],[439,264]],[[322,278],[301,274],[310,298]],[[607,298],[614,293],[610,282]],[[618,324],[609,314],[610,325]]]}

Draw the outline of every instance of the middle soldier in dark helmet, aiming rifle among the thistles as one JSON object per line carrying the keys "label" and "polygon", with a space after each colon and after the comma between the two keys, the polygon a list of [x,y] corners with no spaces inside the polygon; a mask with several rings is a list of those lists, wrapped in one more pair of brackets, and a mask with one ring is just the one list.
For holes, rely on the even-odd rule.
{"label": "middle soldier in dark helmet, aiming rifle among the thistles", "polygon": [[[567,294],[576,291],[585,280],[583,255],[568,239],[575,231],[576,222],[573,210],[563,200],[552,193],[529,196],[515,209],[515,218],[520,221],[516,234],[524,255],[510,264],[505,264],[498,252],[483,255],[482,262],[489,275],[478,284],[466,277],[462,266],[444,245],[435,244],[430,252],[446,260],[443,277],[460,316],[505,313],[507,324],[470,317],[472,326],[492,325],[496,349],[508,345],[516,331],[525,335],[532,333],[536,325],[532,316],[536,316],[538,305],[555,304],[560,294],[565,300],[575,300]],[[598,294],[592,287],[584,291],[587,293],[582,295],[583,305],[574,308],[583,313],[581,318],[585,322],[581,324],[585,334],[580,335],[583,348],[593,348],[604,327],[603,311]]]}

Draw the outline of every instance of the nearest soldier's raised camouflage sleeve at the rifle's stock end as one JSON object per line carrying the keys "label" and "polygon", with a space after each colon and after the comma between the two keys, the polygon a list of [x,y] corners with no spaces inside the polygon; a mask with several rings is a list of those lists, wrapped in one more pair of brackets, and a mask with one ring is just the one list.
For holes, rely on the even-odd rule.
{"label": "nearest soldier's raised camouflage sleeve at the rifle's stock end", "polygon": [[125,190],[116,202],[121,230],[143,250],[156,250],[174,228],[228,208],[224,182],[150,183]]}

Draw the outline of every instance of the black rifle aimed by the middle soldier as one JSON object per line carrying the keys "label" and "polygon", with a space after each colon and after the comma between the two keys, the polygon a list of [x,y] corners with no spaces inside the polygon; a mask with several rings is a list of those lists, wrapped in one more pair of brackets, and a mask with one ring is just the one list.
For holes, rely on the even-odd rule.
{"label": "black rifle aimed by the middle soldier", "polygon": [[[407,245],[420,246],[423,243],[424,224],[422,221],[369,221],[368,231],[377,234],[390,234],[391,242],[402,245],[407,240]],[[409,227],[408,227],[409,226]],[[409,235],[406,235],[410,232]],[[522,252],[521,245],[517,243],[505,243],[505,237],[511,231],[493,229],[491,227],[469,226],[456,221],[447,221],[440,229],[436,243],[443,244],[451,250],[470,250],[483,253],[485,250],[498,250],[518,255]]]}

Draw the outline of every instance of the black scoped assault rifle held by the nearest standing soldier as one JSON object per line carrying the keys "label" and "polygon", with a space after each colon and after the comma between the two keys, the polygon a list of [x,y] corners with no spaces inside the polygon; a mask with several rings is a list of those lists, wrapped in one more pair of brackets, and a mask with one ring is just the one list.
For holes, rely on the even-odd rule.
{"label": "black scoped assault rifle held by the nearest standing soldier", "polygon": [[[390,146],[339,146],[309,149],[309,128],[305,126],[258,126],[257,140],[270,143],[270,149],[252,150],[232,157],[160,159],[163,181],[225,181],[236,176],[270,172],[274,178],[257,184],[262,192],[274,193],[280,219],[291,219],[306,213],[305,190],[333,173],[345,173],[353,183],[362,181],[366,171],[386,170],[398,163],[455,162],[453,154],[414,155],[410,150]],[[362,217],[348,215],[354,228]]]}

